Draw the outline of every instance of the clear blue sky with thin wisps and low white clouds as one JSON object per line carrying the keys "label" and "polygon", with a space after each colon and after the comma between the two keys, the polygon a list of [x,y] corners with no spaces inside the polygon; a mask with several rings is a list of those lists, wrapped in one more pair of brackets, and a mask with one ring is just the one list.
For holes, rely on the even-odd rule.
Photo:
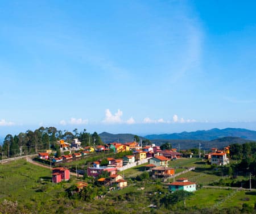
{"label": "clear blue sky with thin wisps and low white clouds", "polygon": [[256,125],[255,1],[2,1],[0,136]]}

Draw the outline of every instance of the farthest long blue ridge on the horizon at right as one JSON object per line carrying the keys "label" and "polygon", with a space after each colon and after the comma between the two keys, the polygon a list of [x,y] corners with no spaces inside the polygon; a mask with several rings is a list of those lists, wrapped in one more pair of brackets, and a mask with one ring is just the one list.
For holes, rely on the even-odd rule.
{"label": "farthest long blue ridge on the horizon at right", "polygon": [[256,140],[256,131],[242,128],[213,128],[208,131],[181,132],[163,135],[147,135],[144,136],[149,140],[204,140],[210,141],[222,137],[240,137],[247,140]]}

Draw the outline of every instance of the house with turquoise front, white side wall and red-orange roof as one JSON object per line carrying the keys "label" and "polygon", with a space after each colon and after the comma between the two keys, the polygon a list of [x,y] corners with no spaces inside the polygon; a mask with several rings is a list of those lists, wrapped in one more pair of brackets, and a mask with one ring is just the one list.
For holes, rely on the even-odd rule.
{"label": "house with turquoise front, white side wall and red-orange roof", "polygon": [[196,191],[196,183],[188,181],[187,178],[180,178],[176,182],[170,183],[168,188],[170,191],[185,190],[193,192]]}

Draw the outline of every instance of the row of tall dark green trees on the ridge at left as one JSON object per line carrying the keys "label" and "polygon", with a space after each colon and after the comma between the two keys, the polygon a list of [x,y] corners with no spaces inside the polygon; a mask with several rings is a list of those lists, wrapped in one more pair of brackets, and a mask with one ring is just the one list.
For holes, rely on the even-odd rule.
{"label": "row of tall dark green trees on the ridge at left", "polygon": [[104,144],[97,132],[91,134],[86,132],[86,129],[79,132],[75,128],[70,132],[58,130],[55,127],[40,127],[35,131],[27,130],[14,136],[6,135],[3,145],[0,145],[0,154],[1,157],[13,157],[15,155],[33,154],[47,149],[57,150],[58,140],[63,139],[71,143],[75,138],[79,139],[82,146]]}

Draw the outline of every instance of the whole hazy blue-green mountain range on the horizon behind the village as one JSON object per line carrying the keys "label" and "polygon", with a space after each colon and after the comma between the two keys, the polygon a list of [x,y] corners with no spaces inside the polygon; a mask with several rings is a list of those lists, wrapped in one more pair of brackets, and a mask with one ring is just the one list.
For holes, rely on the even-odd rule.
{"label": "whole hazy blue-green mountain range on the horizon behind the village", "polygon": [[[100,133],[101,140],[109,142],[130,142],[134,140],[133,134],[111,134]],[[191,149],[199,147],[208,150],[213,147],[223,148],[230,144],[244,144],[256,140],[256,131],[241,128],[210,129],[208,131],[181,132],[163,135],[147,135],[140,137],[141,140],[148,139],[156,145],[170,142],[172,148]]]}

